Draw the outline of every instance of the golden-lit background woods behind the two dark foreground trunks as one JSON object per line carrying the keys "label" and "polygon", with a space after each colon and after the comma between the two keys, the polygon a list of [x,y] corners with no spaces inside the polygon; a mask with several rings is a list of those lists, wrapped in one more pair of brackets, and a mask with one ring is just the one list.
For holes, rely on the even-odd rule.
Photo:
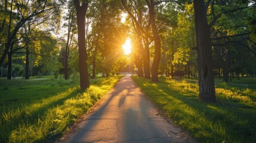
{"label": "golden-lit background woods behind the two dark foreground trunks", "polygon": [[[109,76],[136,68],[138,76],[148,79],[152,73],[156,81],[155,73],[198,77],[193,2],[152,2],[89,2],[84,29],[85,63],[91,78],[97,73]],[[224,82],[255,76],[254,1],[206,4],[214,76]],[[79,72],[79,29],[73,1],[1,1],[0,8],[1,77],[55,75],[68,79]],[[127,39],[132,50],[124,55],[121,46]],[[128,65],[130,69],[125,69]]]}

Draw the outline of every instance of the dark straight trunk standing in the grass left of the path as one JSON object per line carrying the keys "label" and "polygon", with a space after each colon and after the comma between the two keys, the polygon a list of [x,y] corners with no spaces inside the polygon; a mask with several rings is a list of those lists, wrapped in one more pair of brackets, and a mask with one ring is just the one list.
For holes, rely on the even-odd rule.
{"label": "dark straight trunk standing in the grass left of the path", "polygon": [[74,0],[76,7],[76,20],[78,22],[78,52],[79,52],[79,74],[80,74],[80,88],[85,90],[89,88],[89,74],[87,61],[87,47],[85,46],[85,14],[88,8],[88,2]]}

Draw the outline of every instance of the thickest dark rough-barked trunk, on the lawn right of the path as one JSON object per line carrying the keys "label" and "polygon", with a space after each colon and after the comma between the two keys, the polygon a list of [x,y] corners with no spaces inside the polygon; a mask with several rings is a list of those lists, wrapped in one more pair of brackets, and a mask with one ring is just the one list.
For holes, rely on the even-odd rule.
{"label": "thickest dark rough-barked trunk, on the lawn right of the path", "polygon": [[199,99],[214,102],[216,97],[212,70],[211,36],[206,18],[205,2],[197,0],[193,1],[193,4],[198,46]]}

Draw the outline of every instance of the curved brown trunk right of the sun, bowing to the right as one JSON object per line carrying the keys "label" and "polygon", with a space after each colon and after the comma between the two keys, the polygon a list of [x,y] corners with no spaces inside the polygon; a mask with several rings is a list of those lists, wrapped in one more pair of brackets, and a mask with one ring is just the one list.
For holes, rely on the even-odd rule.
{"label": "curved brown trunk right of the sun, bowing to the right", "polygon": [[152,33],[154,37],[154,45],[155,45],[155,55],[154,55],[154,60],[152,63],[152,77],[151,80],[152,82],[158,82],[158,68],[159,68],[159,63],[160,63],[160,58],[161,58],[161,40],[158,35],[158,28],[156,27],[155,23],[155,3],[153,0],[146,0],[147,6],[149,7],[149,19],[152,27]]}

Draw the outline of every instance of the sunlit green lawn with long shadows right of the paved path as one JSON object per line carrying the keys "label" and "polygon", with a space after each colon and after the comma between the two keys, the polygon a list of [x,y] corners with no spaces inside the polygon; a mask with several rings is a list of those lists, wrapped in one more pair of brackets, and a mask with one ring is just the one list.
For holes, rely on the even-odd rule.
{"label": "sunlit green lawn with long shadows right of the paved path", "polygon": [[198,100],[198,83],[160,78],[153,83],[133,77],[174,123],[188,130],[199,142],[255,142],[256,88],[216,85],[218,102]]}

